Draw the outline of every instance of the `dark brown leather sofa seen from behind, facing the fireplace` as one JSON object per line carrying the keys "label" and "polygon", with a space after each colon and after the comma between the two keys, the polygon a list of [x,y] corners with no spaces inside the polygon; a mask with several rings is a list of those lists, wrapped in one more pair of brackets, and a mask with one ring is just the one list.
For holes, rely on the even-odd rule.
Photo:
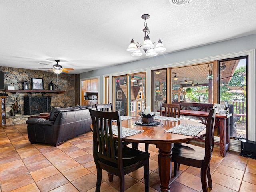
{"label": "dark brown leather sofa seen from behind, facing the fireplace", "polygon": [[95,109],[92,105],[53,108],[48,120],[28,119],[26,124],[29,141],[31,144],[40,142],[58,146],[66,140],[90,131],[90,108]]}

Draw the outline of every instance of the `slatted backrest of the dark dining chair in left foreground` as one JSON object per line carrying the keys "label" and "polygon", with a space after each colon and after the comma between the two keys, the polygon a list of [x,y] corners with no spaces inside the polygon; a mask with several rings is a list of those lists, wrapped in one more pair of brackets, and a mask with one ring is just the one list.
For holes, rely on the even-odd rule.
{"label": "slatted backrest of the dark dining chair in left foreground", "polygon": [[[93,127],[93,157],[118,164],[122,168],[122,130],[120,112],[89,110]],[[117,122],[118,150],[113,136],[112,120]]]}

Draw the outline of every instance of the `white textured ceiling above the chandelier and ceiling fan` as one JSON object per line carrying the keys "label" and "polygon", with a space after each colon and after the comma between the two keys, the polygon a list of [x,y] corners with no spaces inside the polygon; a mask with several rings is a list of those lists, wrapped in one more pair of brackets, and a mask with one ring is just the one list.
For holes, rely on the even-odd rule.
{"label": "white textured ceiling above the chandelier and ceiling fan", "polygon": [[132,38],[143,42],[142,14],[167,54],[256,34],[255,10],[255,0],[1,0],[0,66],[38,70],[59,59],[78,74],[148,58],[126,51]]}

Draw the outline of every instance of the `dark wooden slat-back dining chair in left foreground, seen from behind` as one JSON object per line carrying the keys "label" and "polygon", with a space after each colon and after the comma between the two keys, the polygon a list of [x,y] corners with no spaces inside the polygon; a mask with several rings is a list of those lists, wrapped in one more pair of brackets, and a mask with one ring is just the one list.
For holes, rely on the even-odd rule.
{"label": "dark wooden slat-back dining chair in left foreground, seen from behind", "polygon": [[[124,175],[144,168],[145,191],[149,191],[148,152],[123,146],[120,112],[89,110],[93,127],[93,158],[97,169],[96,192],[100,192],[102,169],[119,176],[120,192],[124,192]],[[118,136],[113,135],[113,123],[116,120]],[[118,140],[118,146],[115,146]]]}

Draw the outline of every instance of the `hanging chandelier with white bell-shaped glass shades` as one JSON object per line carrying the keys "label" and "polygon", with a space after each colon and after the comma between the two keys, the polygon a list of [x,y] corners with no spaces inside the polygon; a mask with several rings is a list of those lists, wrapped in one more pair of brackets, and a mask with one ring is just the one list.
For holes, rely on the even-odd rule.
{"label": "hanging chandelier with white bell-shaped glass shades", "polygon": [[[154,43],[157,43],[156,46],[154,46],[154,43],[152,43],[152,41],[150,40],[150,38],[148,36],[150,33],[150,30],[147,26],[147,19],[150,18],[150,15],[144,14],[141,16],[141,18],[145,19],[145,22],[144,22],[145,28],[143,29],[143,32],[145,33],[144,42],[143,42],[143,44],[140,44],[138,42],[135,42],[132,39],[130,45],[128,46],[128,48],[126,50],[132,51],[132,56],[141,56],[141,55],[143,55],[139,49],[139,47],[141,47],[144,50],[144,52],[146,53],[146,56],[149,56],[149,57],[157,56],[158,53],[164,52],[166,50],[166,48],[164,47],[164,45],[162,44],[160,39],[158,42],[154,42]],[[138,45],[135,43],[137,43]]]}

